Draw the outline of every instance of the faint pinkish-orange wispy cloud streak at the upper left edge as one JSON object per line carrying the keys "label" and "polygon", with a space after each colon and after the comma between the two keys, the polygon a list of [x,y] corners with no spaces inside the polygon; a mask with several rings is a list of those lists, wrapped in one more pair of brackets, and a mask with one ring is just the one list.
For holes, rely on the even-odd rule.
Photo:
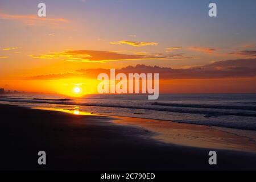
{"label": "faint pinkish-orange wispy cloud streak at the upper left edge", "polygon": [[11,15],[11,14],[0,14],[0,19],[6,20],[20,20],[26,24],[34,25],[37,23],[51,23],[51,24],[58,24],[58,23],[65,23],[68,22],[67,19],[64,18],[42,18],[37,15]]}

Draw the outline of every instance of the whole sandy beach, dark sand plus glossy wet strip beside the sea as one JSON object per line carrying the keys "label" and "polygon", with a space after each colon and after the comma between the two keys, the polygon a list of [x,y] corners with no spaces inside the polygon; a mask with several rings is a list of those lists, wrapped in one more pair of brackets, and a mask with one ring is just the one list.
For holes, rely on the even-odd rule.
{"label": "whole sandy beach, dark sand plus glossy wet strip beside the sea", "polygon": [[254,131],[13,105],[0,114],[1,170],[256,169]]}

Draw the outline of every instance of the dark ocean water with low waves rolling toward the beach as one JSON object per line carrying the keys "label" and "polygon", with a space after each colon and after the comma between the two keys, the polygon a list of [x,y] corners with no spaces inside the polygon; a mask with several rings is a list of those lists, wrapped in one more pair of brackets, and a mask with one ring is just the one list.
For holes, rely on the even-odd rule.
{"label": "dark ocean water with low waves rolling toward the beach", "polygon": [[146,94],[9,94],[0,97],[0,104],[256,130],[256,94],[160,94],[156,101],[147,100]]}

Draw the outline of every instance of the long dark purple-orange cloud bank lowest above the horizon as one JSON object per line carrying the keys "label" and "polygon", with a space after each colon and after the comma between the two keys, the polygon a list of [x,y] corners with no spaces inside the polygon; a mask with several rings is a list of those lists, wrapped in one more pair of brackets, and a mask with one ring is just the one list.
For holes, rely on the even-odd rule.
{"label": "long dark purple-orange cloud bank lowest above the horizon", "polygon": [[[43,75],[28,77],[28,79],[53,79],[72,76],[84,76],[96,79],[100,73],[108,73],[109,69],[79,69],[76,73],[62,73],[56,75]],[[164,68],[158,66],[136,65],[122,69],[115,69],[116,73],[159,73],[160,79],[209,79],[209,78],[243,78],[256,77],[256,59],[238,59],[216,61],[215,63],[192,68]]]}

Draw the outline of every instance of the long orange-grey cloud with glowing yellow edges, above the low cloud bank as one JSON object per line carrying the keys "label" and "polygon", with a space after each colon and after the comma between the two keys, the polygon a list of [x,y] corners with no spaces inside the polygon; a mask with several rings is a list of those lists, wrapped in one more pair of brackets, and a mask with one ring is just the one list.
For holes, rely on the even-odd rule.
{"label": "long orange-grey cloud with glowing yellow edges, above the low cloud bank", "polygon": [[63,58],[65,61],[79,61],[79,62],[90,62],[90,63],[105,63],[107,61],[121,61],[121,60],[180,60],[180,59],[193,59],[193,57],[184,56],[182,53],[179,54],[155,54],[147,55],[143,53],[125,54],[117,53],[113,51],[92,51],[92,50],[74,50],[74,51],[63,51],[63,52],[51,52],[46,55],[29,55],[32,58],[37,59],[56,59]]}

